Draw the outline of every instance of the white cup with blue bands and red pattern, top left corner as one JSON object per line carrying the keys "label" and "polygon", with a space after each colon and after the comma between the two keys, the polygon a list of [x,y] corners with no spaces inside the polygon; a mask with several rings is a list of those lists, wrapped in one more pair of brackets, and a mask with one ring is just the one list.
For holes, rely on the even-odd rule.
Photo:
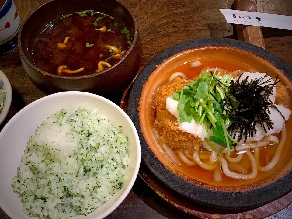
{"label": "white cup with blue bands and red pattern, top left corner", "polygon": [[13,0],[6,0],[0,9],[0,54],[17,47],[20,19]]}

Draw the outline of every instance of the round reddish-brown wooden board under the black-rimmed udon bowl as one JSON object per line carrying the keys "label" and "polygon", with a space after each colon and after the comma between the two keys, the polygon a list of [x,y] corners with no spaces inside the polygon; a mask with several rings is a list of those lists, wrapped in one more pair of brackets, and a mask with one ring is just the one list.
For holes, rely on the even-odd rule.
{"label": "round reddish-brown wooden board under the black-rimmed udon bowl", "polygon": [[[137,73],[137,75],[139,74],[139,72]],[[134,80],[137,78],[137,75]],[[125,90],[120,102],[120,107],[125,112],[127,112],[127,103],[129,99],[128,91],[131,89],[131,87],[132,84]],[[158,194],[158,196],[167,201],[169,204],[175,206],[183,212],[203,219],[262,219],[276,214],[277,212],[283,210],[292,203],[292,192],[290,192],[282,198],[259,208],[245,210],[218,209],[190,202],[179,196],[178,194],[173,193],[162,182],[160,182],[153,173],[151,173],[151,171],[146,167],[143,162],[141,162],[139,176],[144,180],[144,182],[147,183],[147,185],[151,189],[155,191],[155,193]]]}

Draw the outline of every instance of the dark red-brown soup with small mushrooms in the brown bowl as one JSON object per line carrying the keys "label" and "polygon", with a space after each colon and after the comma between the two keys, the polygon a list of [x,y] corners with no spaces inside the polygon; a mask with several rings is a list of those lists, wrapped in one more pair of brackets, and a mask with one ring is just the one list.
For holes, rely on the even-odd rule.
{"label": "dark red-brown soup with small mushrooms in the brown bowl", "polygon": [[90,75],[119,61],[131,43],[129,29],[112,16],[76,12],[56,18],[39,32],[33,59],[51,74]]}

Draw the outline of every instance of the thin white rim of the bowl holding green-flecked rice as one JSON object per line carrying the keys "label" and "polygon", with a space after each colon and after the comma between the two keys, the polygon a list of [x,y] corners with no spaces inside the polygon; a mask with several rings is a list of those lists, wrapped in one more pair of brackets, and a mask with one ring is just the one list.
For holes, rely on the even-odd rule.
{"label": "thin white rim of the bowl holding green-flecked rice", "polygon": [[[7,127],[10,125],[10,123],[14,122],[14,120],[17,120],[19,116],[22,115],[22,112],[24,111],[24,109],[26,108],[31,108],[34,105],[36,105],[39,102],[43,102],[46,99],[50,99],[50,98],[54,98],[57,96],[66,96],[69,94],[82,94],[82,95],[86,95],[86,96],[92,96],[92,97],[96,97],[97,99],[100,99],[102,101],[105,101],[106,103],[109,103],[111,106],[115,107],[117,110],[119,110],[123,116],[125,116],[125,118],[127,119],[127,121],[130,123],[131,128],[134,130],[134,135],[137,141],[137,161],[136,161],[136,165],[135,165],[135,169],[134,169],[134,174],[132,176],[132,179],[130,180],[127,188],[125,189],[125,191],[123,192],[123,194],[120,196],[120,198],[114,203],[113,206],[111,206],[108,210],[106,210],[103,214],[99,215],[98,217],[95,217],[93,219],[99,218],[105,218],[106,216],[108,216],[109,214],[111,214],[114,210],[116,210],[117,207],[120,206],[120,204],[125,200],[125,198],[128,196],[128,194],[130,193],[134,182],[136,181],[136,178],[138,176],[138,172],[139,172],[139,168],[140,168],[140,162],[141,162],[141,146],[140,146],[140,140],[139,140],[139,136],[138,136],[138,132],[136,127],[134,126],[134,123],[132,122],[132,120],[130,119],[130,117],[127,115],[127,113],[125,113],[125,111],[123,111],[122,108],[120,108],[118,105],[116,105],[115,103],[113,103],[112,101],[110,101],[109,99],[106,99],[102,96],[96,95],[96,94],[92,94],[92,93],[88,93],[88,92],[81,92],[81,91],[65,91],[65,92],[59,92],[59,93],[54,93],[48,96],[44,96],[40,99],[37,99],[35,101],[33,101],[32,103],[28,104],[27,106],[25,106],[23,109],[19,110],[19,112],[17,112],[9,121],[8,123],[3,127],[3,129],[0,132],[0,139],[3,135],[3,133],[5,132],[5,130],[7,129]],[[3,206],[2,202],[4,200],[1,199],[0,197],[0,207]],[[1,209],[5,212],[5,214],[7,214],[10,218],[14,218],[12,217],[11,214],[6,212],[6,209],[3,209],[1,207]],[[69,217],[69,218],[74,218],[74,217]],[[16,219],[16,218],[15,218]]]}

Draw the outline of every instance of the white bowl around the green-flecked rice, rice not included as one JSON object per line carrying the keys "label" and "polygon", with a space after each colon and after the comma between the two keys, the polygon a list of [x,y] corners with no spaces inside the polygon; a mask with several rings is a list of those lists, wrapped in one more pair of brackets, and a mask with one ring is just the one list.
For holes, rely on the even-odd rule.
{"label": "white bowl around the green-flecked rice, rice not included", "polygon": [[17,175],[21,156],[29,137],[44,119],[58,109],[75,111],[81,104],[88,104],[105,115],[115,127],[123,126],[123,134],[129,137],[127,152],[130,164],[125,168],[128,179],[123,188],[106,203],[86,216],[74,219],[102,219],[112,213],[129,194],[137,178],[141,161],[141,148],[137,130],[129,116],[115,103],[101,96],[69,91],[45,96],[21,109],[0,132],[0,207],[12,219],[32,219],[22,211],[19,195],[13,192],[11,180]]}

